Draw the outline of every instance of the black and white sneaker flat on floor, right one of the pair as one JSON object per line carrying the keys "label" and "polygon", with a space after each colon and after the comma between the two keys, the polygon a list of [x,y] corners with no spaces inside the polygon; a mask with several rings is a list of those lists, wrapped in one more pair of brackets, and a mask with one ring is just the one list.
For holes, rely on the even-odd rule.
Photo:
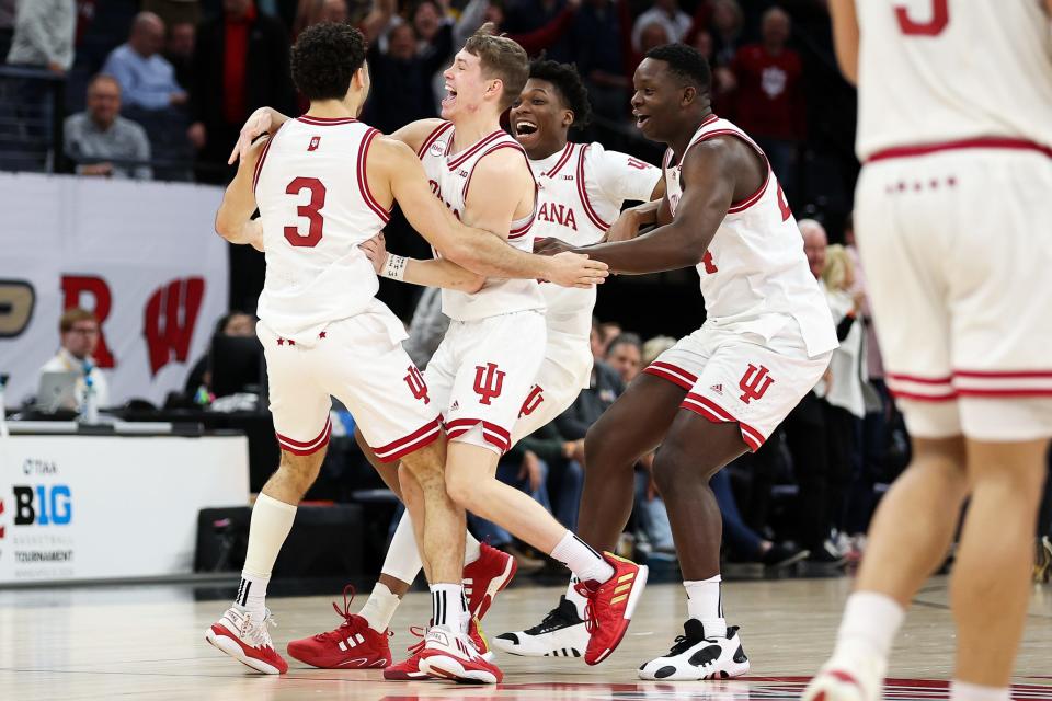
{"label": "black and white sneaker flat on floor, right one of the pair", "polygon": [[730,679],[748,673],[748,657],[742,650],[737,627],[727,629],[725,637],[706,637],[701,621],[691,618],[683,625],[667,655],[651,659],[639,668],[639,678],[648,680]]}

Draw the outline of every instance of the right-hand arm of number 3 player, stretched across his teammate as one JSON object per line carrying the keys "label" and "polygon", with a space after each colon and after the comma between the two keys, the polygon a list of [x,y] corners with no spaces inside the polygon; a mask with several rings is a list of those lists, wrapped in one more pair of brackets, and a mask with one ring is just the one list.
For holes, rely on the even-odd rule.
{"label": "right-hand arm of number 3 player, stretched across his teammate", "polygon": [[408,146],[378,138],[369,149],[368,177],[382,183],[402,207],[409,223],[443,257],[485,277],[546,279],[564,287],[602,283],[606,266],[585,258],[545,258],[524,253],[499,237],[466,227],[432,194],[416,154]]}

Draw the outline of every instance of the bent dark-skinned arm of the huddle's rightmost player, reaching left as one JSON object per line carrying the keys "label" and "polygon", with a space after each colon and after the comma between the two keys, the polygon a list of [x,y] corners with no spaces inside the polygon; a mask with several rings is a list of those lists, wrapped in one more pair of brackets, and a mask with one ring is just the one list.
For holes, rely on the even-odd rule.
{"label": "bent dark-skinned arm of the huddle's rightmost player, reaching left", "polygon": [[631,241],[573,251],[603,261],[615,273],[659,273],[698,265],[733,202],[734,173],[742,170],[742,150],[723,139],[695,146],[684,159],[684,193],[670,223]]}

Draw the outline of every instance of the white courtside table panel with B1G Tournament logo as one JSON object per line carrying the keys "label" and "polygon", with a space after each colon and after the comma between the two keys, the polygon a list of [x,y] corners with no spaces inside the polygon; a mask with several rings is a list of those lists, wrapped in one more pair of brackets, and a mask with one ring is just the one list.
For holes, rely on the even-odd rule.
{"label": "white courtside table panel with B1G Tournament logo", "polygon": [[0,438],[0,583],[190,573],[197,513],[248,493],[242,436]]}

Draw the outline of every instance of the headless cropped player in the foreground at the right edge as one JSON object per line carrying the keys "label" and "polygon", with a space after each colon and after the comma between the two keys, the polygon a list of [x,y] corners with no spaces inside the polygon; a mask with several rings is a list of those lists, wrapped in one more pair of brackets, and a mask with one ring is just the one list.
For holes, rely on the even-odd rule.
{"label": "headless cropped player in the foreground at the right edge", "polygon": [[913,462],[877,509],[804,698],[881,697],[905,609],[968,499],[950,698],[1007,701],[1052,436],[1052,2],[830,9],[859,88],[856,235]]}

